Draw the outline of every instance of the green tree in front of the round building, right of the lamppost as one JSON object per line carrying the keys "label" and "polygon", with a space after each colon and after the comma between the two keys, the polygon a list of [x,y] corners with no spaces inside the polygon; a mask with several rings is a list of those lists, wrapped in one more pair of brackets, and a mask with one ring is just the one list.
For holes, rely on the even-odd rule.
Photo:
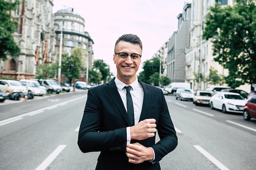
{"label": "green tree in front of the round building, right of the lamppost", "polygon": [[61,74],[67,77],[70,84],[73,79],[79,79],[81,69],[84,69],[82,64],[82,57],[85,55],[88,55],[88,53],[81,47],[72,49],[70,56],[68,56],[67,53],[62,54]]}

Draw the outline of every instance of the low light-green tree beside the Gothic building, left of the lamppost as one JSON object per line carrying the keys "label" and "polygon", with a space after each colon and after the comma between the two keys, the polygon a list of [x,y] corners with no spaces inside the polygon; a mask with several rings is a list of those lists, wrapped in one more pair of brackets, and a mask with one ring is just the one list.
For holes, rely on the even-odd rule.
{"label": "low light-green tree beside the Gothic building, left of the lamppost", "polygon": [[36,68],[36,79],[54,78],[57,74],[58,62],[54,64],[43,63]]}

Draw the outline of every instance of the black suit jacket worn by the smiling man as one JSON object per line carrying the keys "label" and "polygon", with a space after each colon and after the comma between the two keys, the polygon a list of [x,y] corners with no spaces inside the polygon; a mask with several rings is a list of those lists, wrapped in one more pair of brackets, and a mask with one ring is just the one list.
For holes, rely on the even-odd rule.
{"label": "black suit jacket worn by the smiling man", "polygon": [[[115,79],[115,78],[114,78]],[[139,121],[156,119],[160,141],[155,137],[139,142],[155,151],[155,164],[128,162],[126,127],[128,116],[115,81],[88,90],[80,125],[78,146],[82,152],[101,151],[96,170],[160,170],[159,161],[177,146],[177,136],[162,90],[141,81],[144,100]]]}

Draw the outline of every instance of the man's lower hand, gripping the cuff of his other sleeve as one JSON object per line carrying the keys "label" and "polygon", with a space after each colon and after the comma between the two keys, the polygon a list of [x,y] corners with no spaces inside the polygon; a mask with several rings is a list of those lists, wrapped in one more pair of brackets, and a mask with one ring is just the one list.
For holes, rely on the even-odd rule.
{"label": "man's lower hand, gripping the cuff of his other sleeve", "polygon": [[126,144],[126,155],[128,157],[128,161],[135,164],[152,160],[154,158],[153,149],[146,148],[139,143]]}

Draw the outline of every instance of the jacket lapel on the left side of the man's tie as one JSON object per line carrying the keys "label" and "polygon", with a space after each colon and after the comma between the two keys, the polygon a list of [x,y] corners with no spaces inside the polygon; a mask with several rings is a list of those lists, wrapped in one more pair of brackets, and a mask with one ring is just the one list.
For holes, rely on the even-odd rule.
{"label": "jacket lapel on the left side of the man's tie", "polygon": [[[129,125],[129,117],[127,115],[126,109],[124,107],[123,101],[120,97],[120,94],[117,90],[117,86],[115,84],[115,78],[113,78],[110,82],[107,83],[108,86],[106,87],[106,91],[108,92],[108,95],[113,100],[115,106],[117,106],[117,109],[119,110],[119,113],[124,117],[126,123]],[[110,106],[112,107],[112,106]]]}

